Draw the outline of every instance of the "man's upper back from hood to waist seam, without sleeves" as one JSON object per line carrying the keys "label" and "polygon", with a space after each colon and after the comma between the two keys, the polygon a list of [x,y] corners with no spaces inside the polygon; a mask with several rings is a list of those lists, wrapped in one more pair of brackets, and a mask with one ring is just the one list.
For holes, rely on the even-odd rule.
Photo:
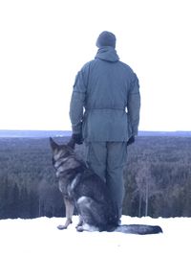
{"label": "man's upper back from hood to waist seam, without sleeves", "polygon": [[[104,53],[100,54],[101,51]],[[114,49],[107,47],[100,49],[96,59],[89,63],[88,69],[85,106],[124,110],[134,77],[131,68],[118,60]]]}

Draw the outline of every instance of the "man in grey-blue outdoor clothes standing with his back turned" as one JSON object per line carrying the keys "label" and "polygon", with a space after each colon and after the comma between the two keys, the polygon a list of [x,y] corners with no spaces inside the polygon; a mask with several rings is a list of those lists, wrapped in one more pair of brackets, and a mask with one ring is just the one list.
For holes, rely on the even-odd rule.
{"label": "man in grey-blue outdoor clothes standing with his back turned", "polygon": [[86,162],[106,182],[120,218],[127,145],[138,135],[139,85],[133,70],[119,61],[114,34],[102,32],[96,46],[96,58],[82,67],[74,82],[73,139],[85,142]]}

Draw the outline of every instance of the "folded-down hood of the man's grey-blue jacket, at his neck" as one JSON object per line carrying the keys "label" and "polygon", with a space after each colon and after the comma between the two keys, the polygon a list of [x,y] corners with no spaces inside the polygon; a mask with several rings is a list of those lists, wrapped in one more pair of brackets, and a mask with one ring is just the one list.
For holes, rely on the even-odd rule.
{"label": "folded-down hood of the man's grey-blue jacket, at his neck", "polygon": [[117,56],[117,51],[114,49],[114,47],[111,46],[105,46],[98,49],[96,53],[96,58],[100,58],[102,60],[116,62],[119,60]]}

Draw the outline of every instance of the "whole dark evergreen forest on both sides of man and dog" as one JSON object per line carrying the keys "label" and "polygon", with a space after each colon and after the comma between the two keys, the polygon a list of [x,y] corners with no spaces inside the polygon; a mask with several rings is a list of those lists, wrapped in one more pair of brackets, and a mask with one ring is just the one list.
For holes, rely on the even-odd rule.
{"label": "whole dark evergreen forest on both sides of man and dog", "polygon": [[[191,217],[190,163],[191,137],[138,136],[128,147],[123,214]],[[0,201],[0,219],[65,216],[49,138],[0,138]]]}

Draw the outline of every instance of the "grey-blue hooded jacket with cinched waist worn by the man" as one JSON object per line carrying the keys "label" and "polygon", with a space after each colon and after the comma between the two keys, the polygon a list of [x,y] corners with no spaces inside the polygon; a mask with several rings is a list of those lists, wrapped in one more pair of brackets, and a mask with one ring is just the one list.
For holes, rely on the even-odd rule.
{"label": "grey-blue hooded jacket with cinched waist worn by the man", "polygon": [[82,130],[87,142],[127,141],[138,134],[139,107],[136,74],[113,47],[99,48],[75,78],[70,105],[73,132]]}

